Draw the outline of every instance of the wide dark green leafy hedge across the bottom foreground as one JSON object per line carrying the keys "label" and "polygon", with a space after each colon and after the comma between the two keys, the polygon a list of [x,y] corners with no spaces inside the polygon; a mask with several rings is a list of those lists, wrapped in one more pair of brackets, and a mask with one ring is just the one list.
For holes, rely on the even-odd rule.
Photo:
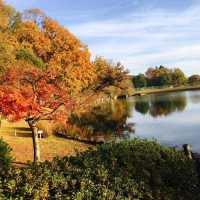
{"label": "wide dark green leafy hedge across the bottom foreground", "polygon": [[98,146],[76,157],[11,169],[1,178],[5,199],[200,199],[196,166],[156,142]]}

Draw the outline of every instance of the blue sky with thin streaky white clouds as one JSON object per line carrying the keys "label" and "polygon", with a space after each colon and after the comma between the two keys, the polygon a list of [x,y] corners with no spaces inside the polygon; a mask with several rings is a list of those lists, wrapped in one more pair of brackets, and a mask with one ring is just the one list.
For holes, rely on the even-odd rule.
{"label": "blue sky with thin streaky white clouds", "polygon": [[120,61],[132,74],[180,67],[200,74],[199,0],[6,0],[41,8],[87,44],[92,57]]}

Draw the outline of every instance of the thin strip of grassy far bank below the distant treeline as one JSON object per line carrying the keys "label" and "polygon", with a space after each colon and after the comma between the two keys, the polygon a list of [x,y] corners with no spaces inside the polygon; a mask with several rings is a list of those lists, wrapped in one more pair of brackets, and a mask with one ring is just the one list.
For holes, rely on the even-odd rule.
{"label": "thin strip of grassy far bank below the distant treeline", "polygon": [[143,96],[143,95],[148,95],[148,94],[190,91],[190,90],[200,90],[200,85],[198,85],[198,86],[168,87],[168,88],[144,88],[144,89],[135,91],[130,96]]}

